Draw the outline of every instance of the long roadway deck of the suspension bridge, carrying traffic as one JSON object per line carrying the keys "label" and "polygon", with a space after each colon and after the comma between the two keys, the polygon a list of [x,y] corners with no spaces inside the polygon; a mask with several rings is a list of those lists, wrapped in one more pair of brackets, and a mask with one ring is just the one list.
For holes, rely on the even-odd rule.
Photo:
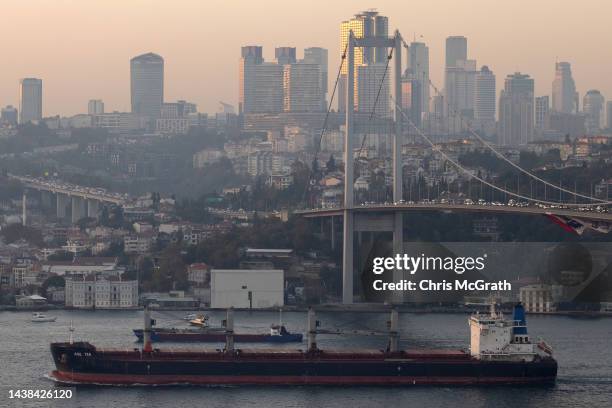
{"label": "long roadway deck of the suspension bridge, carrying traffic", "polygon": [[[554,214],[572,218],[579,218],[589,221],[611,222],[612,213],[598,211],[579,211],[569,208],[537,207],[537,206],[509,206],[509,205],[481,205],[481,204],[370,204],[355,206],[351,211],[355,214],[373,212],[395,212],[395,211],[448,211],[448,212],[480,212],[495,214],[525,214],[525,215],[545,215]],[[318,208],[309,210],[295,211],[295,214],[305,218],[341,216],[343,207]]]}

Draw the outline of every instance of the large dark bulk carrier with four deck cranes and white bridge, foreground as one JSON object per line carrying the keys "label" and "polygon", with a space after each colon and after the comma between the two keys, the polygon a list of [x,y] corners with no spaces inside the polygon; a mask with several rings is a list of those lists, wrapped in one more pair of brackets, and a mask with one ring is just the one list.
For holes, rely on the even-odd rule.
{"label": "large dark bulk carrier with four deck cranes and white bridge, foreground", "polygon": [[552,349],[530,340],[520,304],[511,319],[494,307],[489,315],[472,315],[469,351],[400,350],[398,321],[392,310],[385,350],[321,350],[310,309],[307,350],[246,350],[234,347],[230,309],[224,349],[179,351],[153,348],[145,308],[142,349],[109,350],[72,339],[52,343],[52,376],[60,383],[98,385],[551,384],[556,379]]}

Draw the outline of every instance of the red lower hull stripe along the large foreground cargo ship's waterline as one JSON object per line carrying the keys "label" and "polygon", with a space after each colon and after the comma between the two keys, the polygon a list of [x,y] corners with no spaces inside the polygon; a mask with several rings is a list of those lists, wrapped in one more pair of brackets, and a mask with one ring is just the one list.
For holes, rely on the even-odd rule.
{"label": "red lower hull stripe along the large foreground cargo ship's waterline", "polygon": [[469,384],[537,384],[554,382],[554,377],[378,377],[378,376],[200,376],[200,375],[131,375],[89,374],[53,371],[59,382],[100,385],[469,385]]}

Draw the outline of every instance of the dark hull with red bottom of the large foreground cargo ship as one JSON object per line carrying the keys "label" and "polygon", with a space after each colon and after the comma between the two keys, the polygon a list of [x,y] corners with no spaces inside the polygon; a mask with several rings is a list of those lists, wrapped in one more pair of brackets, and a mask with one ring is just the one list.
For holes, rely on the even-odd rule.
{"label": "dark hull with red bottom of the large foreground cargo ship", "polygon": [[103,351],[55,343],[53,377],[101,385],[552,384],[555,360],[481,361],[465,353]]}

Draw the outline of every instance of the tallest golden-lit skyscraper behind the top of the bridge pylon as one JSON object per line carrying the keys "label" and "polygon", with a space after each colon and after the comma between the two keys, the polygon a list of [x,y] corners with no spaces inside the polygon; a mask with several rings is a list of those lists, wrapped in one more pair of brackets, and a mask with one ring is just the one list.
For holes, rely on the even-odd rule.
{"label": "tallest golden-lit skyscraper behind the top of the bridge pylon", "polygon": [[[388,37],[389,21],[385,16],[381,16],[373,10],[364,11],[356,14],[352,19],[343,21],[340,24],[340,52],[343,53],[348,43],[349,32],[353,31],[355,38],[368,37]],[[385,48],[363,48],[357,47],[354,52],[355,73],[359,66],[364,64],[386,63],[387,50]],[[342,65],[341,77],[338,84],[338,109],[346,110],[346,75],[348,66]],[[355,109],[359,106],[358,89],[359,79],[355,75]]]}

